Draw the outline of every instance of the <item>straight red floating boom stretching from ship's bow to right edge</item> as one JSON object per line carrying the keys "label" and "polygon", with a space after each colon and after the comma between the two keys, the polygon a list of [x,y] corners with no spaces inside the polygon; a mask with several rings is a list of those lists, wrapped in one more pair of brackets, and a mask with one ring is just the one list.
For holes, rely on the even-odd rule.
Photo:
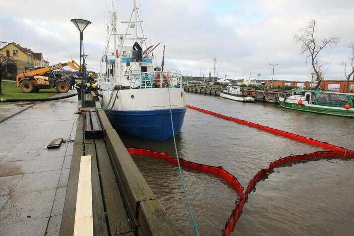
{"label": "straight red floating boom stretching from ship's bow to right edge", "polygon": [[283,136],[283,137],[286,137],[286,138],[289,138],[289,139],[292,139],[292,140],[296,140],[296,141],[300,141],[300,142],[303,142],[303,143],[306,143],[306,144],[310,144],[310,145],[313,145],[313,146],[325,148],[325,149],[328,149],[328,150],[331,150],[331,151],[354,152],[354,151],[351,151],[349,149],[345,149],[343,147],[338,147],[338,146],[335,146],[335,145],[332,145],[332,144],[328,144],[326,142],[321,142],[321,141],[318,141],[318,140],[315,140],[315,139],[306,138],[306,137],[301,136],[301,135],[292,134],[292,133],[289,133],[289,132],[286,132],[286,131],[277,130],[277,129],[270,128],[270,127],[267,127],[267,126],[258,125],[258,124],[252,123],[252,122],[248,122],[248,121],[240,120],[240,119],[237,119],[237,118],[233,118],[231,116],[226,116],[226,115],[215,113],[215,112],[212,112],[212,111],[209,111],[209,110],[204,110],[202,108],[198,108],[198,107],[195,107],[195,106],[187,105],[187,107],[190,108],[190,109],[193,109],[193,110],[197,110],[197,111],[203,112],[205,114],[210,114],[210,115],[219,117],[219,118],[227,120],[227,121],[232,121],[232,122],[238,123],[240,125],[249,126],[249,127],[252,127],[252,128],[263,130],[263,131],[266,131],[268,133],[280,135],[280,136]]}

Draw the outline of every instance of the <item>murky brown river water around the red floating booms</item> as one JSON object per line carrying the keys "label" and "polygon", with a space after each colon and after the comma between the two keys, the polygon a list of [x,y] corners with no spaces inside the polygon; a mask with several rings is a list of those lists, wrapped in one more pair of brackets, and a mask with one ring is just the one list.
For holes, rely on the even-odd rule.
{"label": "murky brown river water around the red floating booms", "polygon": [[[186,93],[187,104],[354,150],[354,119],[294,111],[268,103],[242,103]],[[121,135],[127,147],[167,152],[173,139],[143,141]],[[223,166],[242,186],[280,157],[321,151],[284,137],[225,121],[192,109],[176,136],[180,157]],[[133,156],[138,168],[181,235],[193,235],[178,167]],[[275,168],[249,195],[232,235],[352,235],[354,160],[324,159]],[[186,188],[201,235],[220,235],[238,198],[212,174],[183,168]]]}

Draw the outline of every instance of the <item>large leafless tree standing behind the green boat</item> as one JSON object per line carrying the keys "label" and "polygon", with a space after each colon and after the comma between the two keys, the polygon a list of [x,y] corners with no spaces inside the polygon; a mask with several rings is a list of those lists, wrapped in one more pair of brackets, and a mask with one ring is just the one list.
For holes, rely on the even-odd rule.
{"label": "large leafless tree standing behind the green boat", "polygon": [[321,67],[324,65],[318,63],[319,53],[326,46],[337,44],[339,42],[339,38],[330,37],[328,39],[325,38],[321,41],[317,41],[315,38],[315,33],[317,31],[316,23],[317,22],[315,20],[311,19],[309,25],[307,25],[305,29],[301,29],[299,35],[294,36],[294,40],[301,44],[301,54],[306,55],[306,61],[311,61],[312,69],[316,74],[316,81],[318,82],[316,89],[318,89],[322,80]]}

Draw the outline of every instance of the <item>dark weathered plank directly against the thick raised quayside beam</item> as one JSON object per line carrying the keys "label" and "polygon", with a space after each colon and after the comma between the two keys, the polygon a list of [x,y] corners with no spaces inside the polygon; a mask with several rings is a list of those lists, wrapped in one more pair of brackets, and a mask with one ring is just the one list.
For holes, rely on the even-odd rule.
{"label": "dark weathered plank directly against the thick raised quayside beam", "polygon": [[111,235],[132,231],[103,140],[95,140],[107,221]]}

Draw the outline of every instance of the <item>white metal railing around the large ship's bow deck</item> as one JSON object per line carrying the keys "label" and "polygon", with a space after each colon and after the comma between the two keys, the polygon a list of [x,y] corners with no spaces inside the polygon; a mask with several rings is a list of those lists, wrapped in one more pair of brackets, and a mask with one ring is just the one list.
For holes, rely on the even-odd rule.
{"label": "white metal railing around the large ship's bow deck", "polygon": [[182,88],[182,75],[174,72],[142,72],[125,74],[115,77],[107,77],[102,74],[98,77],[98,86],[103,90],[137,88]]}

